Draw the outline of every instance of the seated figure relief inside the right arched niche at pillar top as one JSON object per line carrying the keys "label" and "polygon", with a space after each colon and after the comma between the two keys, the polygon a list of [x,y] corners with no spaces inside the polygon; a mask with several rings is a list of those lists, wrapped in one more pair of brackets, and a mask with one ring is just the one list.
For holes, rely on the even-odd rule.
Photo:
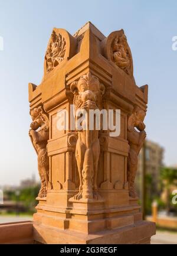
{"label": "seated figure relief inside the right arched niche at pillar top", "polygon": [[114,63],[123,69],[124,72],[130,74],[131,53],[127,44],[126,35],[117,35],[113,40],[112,54]]}

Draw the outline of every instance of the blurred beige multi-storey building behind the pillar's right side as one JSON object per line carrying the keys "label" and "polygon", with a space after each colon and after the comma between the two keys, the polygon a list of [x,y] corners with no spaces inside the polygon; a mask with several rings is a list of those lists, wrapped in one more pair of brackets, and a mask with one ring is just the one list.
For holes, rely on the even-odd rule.
{"label": "blurred beige multi-storey building behind the pillar's right side", "polygon": [[142,174],[146,170],[146,193],[150,198],[160,195],[160,167],[163,166],[164,149],[158,143],[146,140],[139,153],[138,169],[136,176],[136,190],[142,197]]}

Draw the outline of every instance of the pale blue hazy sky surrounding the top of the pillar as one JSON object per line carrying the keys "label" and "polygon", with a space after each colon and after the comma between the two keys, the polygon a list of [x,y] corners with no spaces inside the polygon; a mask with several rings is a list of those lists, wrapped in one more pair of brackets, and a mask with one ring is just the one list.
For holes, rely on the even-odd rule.
{"label": "pale blue hazy sky surrounding the top of the pillar", "polygon": [[172,50],[176,12],[175,0],[0,0],[0,186],[18,184],[33,173],[38,176],[28,137],[28,83],[41,82],[53,27],[74,34],[87,21],[106,36],[124,29],[136,83],[149,85],[148,138],[165,148],[165,164],[177,164],[177,51]]}

